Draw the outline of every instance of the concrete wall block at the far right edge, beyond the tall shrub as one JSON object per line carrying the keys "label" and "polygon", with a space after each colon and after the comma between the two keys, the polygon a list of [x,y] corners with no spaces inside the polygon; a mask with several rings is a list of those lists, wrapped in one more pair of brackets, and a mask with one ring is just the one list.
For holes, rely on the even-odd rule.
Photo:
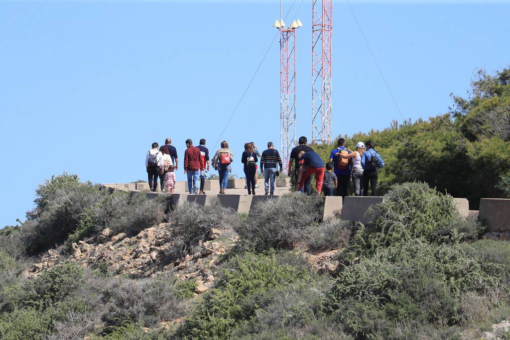
{"label": "concrete wall block at the far right edge, beyond the tall shrub", "polygon": [[482,198],[478,218],[489,232],[510,232],[510,199]]}

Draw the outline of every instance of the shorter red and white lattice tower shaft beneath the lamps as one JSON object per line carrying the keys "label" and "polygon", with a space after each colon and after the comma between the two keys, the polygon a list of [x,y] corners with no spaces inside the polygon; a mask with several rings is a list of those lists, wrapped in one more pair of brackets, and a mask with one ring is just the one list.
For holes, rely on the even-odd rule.
{"label": "shorter red and white lattice tower shaft beneath the lamps", "polygon": [[284,169],[296,142],[296,29],[280,31],[280,121]]}

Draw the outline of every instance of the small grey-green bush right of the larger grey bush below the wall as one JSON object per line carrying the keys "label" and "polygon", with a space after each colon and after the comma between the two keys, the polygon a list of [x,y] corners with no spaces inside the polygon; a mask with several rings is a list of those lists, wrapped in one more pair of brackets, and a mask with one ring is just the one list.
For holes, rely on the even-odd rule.
{"label": "small grey-green bush right of the larger grey bush below the wall", "polygon": [[324,221],[310,230],[308,247],[315,251],[343,248],[349,243],[353,227],[353,222],[339,218]]}

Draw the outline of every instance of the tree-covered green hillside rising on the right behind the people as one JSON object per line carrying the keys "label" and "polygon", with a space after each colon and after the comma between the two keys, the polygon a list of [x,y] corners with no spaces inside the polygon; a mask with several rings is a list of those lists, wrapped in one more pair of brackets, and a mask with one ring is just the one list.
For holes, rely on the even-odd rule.
{"label": "tree-covered green hillside rising on the right behind the people", "polygon": [[[471,87],[468,98],[452,96],[453,105],[446,114],[339,137],[352,149],[359,141],[375,142],[387,164],[379,173],[381,193],[393,184],[417,180],[454,197],[468,198],[473,210],[482,197],[508,198],[510,69],[494,75],[479,70]],[[360,127],[366,125],[363,122]],[[335,147],[314,146],[324,160]]]}

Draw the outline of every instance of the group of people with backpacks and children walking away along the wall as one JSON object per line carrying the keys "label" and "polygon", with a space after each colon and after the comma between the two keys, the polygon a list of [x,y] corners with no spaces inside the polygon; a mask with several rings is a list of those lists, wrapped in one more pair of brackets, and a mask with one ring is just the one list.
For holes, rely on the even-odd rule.
{"label": "group of people with backpacks and children walking away along the wall", "polygon": [[[152,149],[147,151],[145,167],[151,191],[157,190],[159,177],[161,191],[174,192],[175,170],[179,168],[179,159],[175,147],[171,144],[171,139],[167,138],[165,145],[159,147],[158,143],[154,142]],[[228,176],[232,172],[231,164],[234,162],[234,153],[228,148],[228,142],[221,142],[221,147],[211,161],[205,139],[200,139],[197,147],[193,145],[191,139],[186,140],[185,144],[183,167],[188,179],[189,193],[205,194],[203,190],[205,179],[212,165],[218,171],[219,193],[225,194]],[[377,170],[384,167],[385,163],[380,154],[374,150],[374,146],[371,141],[366,145],[358,142],[355,151],[351,151],[345,146],[345,139],[340,138],[337,147],[331,150],[329,162],[324,164],[320,155],[308,145],[307,138],[303,136],[299,138],[298,145],[292,149],[287,174],[295,179],[296,191],[307,195],[311,195],[311,180],[314,175],[319,195],[324,192],[325,196],[333,196],[336,189],[337,196],[348,196],[352,180],[356,196],[367,196],[369,184],[372,196],[377,196]],[[255,189],[258,188],[259,160],[260,172],[264,175],[265,195],[274,195],[275,178],[283,171],[283,164],[272,142],[267,143],[267,149],[262,154],[253,142],[244,144],[241,163],[246,176],[245,188],[248,195],[255,195]]]}

